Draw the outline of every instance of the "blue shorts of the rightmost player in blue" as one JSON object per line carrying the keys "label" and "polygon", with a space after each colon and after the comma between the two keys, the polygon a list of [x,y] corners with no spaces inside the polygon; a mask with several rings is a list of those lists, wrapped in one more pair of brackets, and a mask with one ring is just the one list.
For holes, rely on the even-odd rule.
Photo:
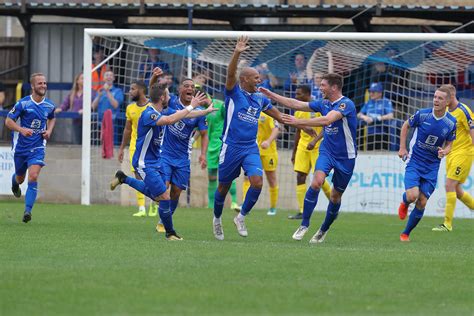
{"label": "blue shorts of the rightmost player in blue", "polygon": [[418,187],[429,199],[436,188],[438,170],[439,165],[422,166],[410,160],[405,168],[405,190]]}

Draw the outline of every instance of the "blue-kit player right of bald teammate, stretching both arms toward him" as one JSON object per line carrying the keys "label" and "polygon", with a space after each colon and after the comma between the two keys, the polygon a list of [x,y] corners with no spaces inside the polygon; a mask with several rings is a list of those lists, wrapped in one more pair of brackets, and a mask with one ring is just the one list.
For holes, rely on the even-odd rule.
{"label": "blue-kit player right of bald teammate, stretching both arms toward him", "polygon": [[297,111],[314,111],[322,116],[310,119],[296,119],[283,115],[285,124],[302,127],[324,126],[324,138],[319,148],[319,157],[311,186],[306,191],[303,207],[303,219],[300,227],[293,234],[293,239],[301,240],[308,231],[311,214],[318,202],[319,191],[331,170],[333,187],[326,211],[326,218],[310,243],[324,241],[329,227],[337,218],[341,207],[341,197],[349,184],[357,156],[356,139],[356,108],[354,102],[342,95],[342,77],[337,74],[323,76],[321,93],[324,99],[303,102],[280,96],[266,89],[260,89],[270,99],[283,106]]}

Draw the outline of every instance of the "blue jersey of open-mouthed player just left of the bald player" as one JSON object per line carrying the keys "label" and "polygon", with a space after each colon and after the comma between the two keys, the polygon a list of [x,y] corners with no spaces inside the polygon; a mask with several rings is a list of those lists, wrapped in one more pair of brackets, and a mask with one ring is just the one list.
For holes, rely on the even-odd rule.
{"label": "blue jersey of open-mouthed player just left of the bald player", "polygon": [[[175,98],[174,102],[169,104],[169,110],[173,112],[183,110],[184,108],[185,106],[179,98]],[[166,126],[161,154],[171,159],[189,160],[192,150],[191,135],[194,129],[199,131],[207,130],[205,116],[184,118],[173,125]]]}

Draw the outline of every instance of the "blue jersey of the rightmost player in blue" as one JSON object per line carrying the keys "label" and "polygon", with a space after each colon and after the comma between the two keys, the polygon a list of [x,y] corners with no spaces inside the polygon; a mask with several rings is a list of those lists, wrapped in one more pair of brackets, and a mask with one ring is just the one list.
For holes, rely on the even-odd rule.
{"label": "blue jersey of the rightmost player in blue", "polygon": [[408,119],[415,128],[410,140],[409,163],[439,166],[438,147],[445,141],[456,139],[456,119],[446,112],[441,118],[433,114],[433,109],[421,109]]}

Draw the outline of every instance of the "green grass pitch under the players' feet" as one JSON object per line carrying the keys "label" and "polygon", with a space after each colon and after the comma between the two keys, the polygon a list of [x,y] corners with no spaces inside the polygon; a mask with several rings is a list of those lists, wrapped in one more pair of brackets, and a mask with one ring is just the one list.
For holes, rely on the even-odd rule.
{"label": "green grass pitch under the players' feet", "polygon": [[0,202],[0,315],[460,315],[474,311],[474,221],[434,233],[424,218],[402,244],[396,216],[340,214],[326,240],[302,242],[288,212],[247,218],[237,235],[224,211],[179,208],[182,242],[155,232],[134,208]]}

